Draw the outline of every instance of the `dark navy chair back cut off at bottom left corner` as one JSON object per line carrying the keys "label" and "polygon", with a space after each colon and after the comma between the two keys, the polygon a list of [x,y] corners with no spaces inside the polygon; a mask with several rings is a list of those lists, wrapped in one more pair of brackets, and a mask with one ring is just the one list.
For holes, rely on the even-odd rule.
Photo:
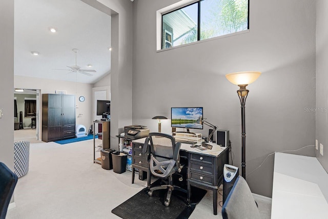
{"label": "dark navy chair back cut off at bottom left corner", "polygon": [[5,219],[11,196],[18,177],[4,163],[0,162],[0,219]]}

